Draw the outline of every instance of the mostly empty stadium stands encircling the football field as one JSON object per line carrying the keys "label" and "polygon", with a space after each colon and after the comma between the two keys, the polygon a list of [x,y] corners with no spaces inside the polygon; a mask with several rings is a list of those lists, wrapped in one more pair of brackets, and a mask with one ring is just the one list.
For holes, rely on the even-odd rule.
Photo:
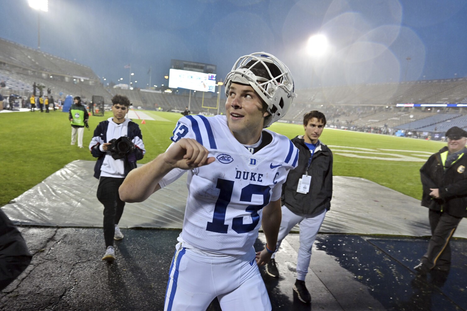
{"label": "mostly empty stadium stands encircling the football field", "polygon": [[[132,105],[143,109],[217,113],[216,94],[191,92],[160,93],[151,90],[106,88],[91,68],[61,57],[28,48],[0,38],[0,81],[5,81],[3,95],[29,96],[32,85],[50,88],[54,98],[81,96],[90,101],[92,95],[103,96],[110,104],[115,94],[125,95]],[[457,125],[467,127],[467,108],[439,107],[435,110],[396,107],[399,103],[467,104],[467,78],[409,81],[402,83],[356,84],[296,90],[298,95],[281,121],[301,124],[307,111],[323,111],[327,124],[348,129],[411,129],[445,131]],[[224,111],[225,98],[219,112]]]}

